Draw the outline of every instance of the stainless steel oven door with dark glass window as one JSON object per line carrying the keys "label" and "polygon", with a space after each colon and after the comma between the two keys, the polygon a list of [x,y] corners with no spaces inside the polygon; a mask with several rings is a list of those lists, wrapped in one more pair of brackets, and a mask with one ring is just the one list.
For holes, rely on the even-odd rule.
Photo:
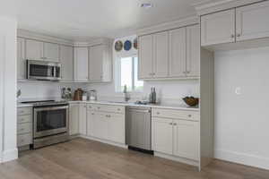
{"label": "stainless steel oven door with dark glass window", "polygon": [[34,138],[67,132],[68,106],[35,107]]}

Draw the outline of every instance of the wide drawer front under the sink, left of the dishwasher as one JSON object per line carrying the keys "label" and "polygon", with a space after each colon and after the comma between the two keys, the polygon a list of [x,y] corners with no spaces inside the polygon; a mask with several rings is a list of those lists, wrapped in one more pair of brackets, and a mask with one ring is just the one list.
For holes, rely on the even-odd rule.
{"label": "wide drawer front under the sink, left of the dishwasher", "polygon": [[125,108],[122,106],[112,106],[112,105],[88,105],[88,108],[94,111],[108,112],[108,113],[125,113]]}

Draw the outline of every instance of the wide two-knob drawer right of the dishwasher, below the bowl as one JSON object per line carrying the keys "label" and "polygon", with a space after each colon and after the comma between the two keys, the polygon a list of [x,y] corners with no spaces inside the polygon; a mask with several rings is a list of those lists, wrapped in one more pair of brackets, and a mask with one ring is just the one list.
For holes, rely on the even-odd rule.
{"label": "wide two-knob drawer right of the dishwasher, below the bowl", "polygon": [[199,112],[197,111],[152,108],[152,116],[199,121]]}

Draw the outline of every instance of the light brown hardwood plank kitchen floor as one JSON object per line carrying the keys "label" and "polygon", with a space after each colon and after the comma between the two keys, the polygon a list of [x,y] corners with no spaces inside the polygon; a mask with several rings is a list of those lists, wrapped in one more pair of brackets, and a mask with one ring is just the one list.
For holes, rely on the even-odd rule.
{"label": "light brown hardwood plank kitchen floor", "polygon": [[214,160],[195,167],[97,141],[75,139],[22,152],[0,165],[0,179],[268,179],[269,171]]}

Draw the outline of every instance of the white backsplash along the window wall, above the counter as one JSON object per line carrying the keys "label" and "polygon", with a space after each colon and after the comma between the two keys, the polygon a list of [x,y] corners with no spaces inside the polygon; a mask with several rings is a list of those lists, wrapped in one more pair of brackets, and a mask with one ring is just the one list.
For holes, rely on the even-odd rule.
{"label": "white backsplash along the window wall, above the counter", "polygon": [[[151,87],[156,88],[161,103],[182,104],[186,96],[200,97],[199,81],[144,81],[143,92],[131,93],[131,101],[148,99]],[[97,90],[99,100],[123,100],[121,92],[115,92],[114,83],[82,85],[82,90]]]}

